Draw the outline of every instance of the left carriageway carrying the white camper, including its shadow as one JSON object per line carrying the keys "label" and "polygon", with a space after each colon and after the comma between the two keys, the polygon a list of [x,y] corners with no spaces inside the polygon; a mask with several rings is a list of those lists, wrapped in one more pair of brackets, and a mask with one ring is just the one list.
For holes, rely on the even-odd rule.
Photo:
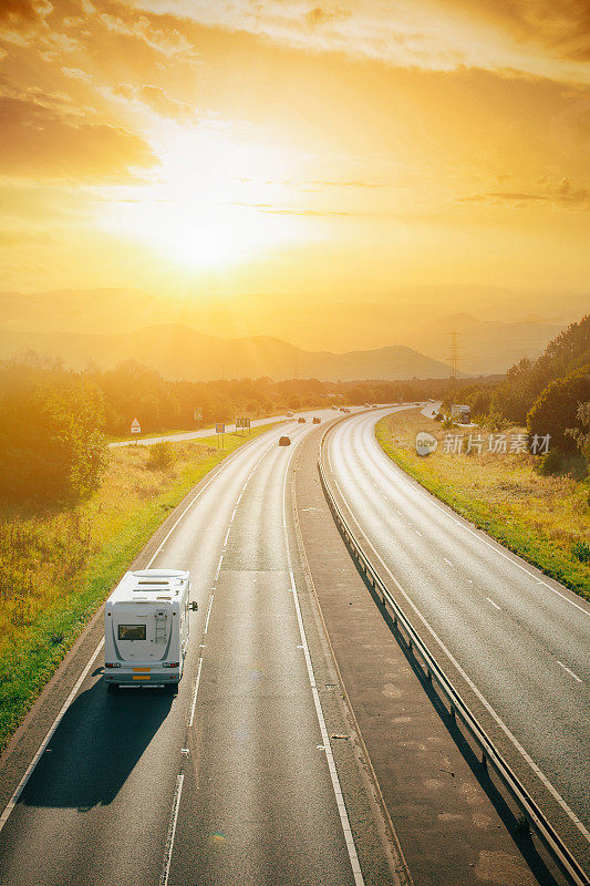
{"label": "left carriageway carrying the white camper, including its shadow", "polygon": [[325,722],[286,488],[311,430],[291,422],[290,447],[275,430],[228,457],[141,564],[193,575],[178,694],[107,693],[99,645],[4,815],[2,886],[363,884],[352,833],[379,837],[334,765],[342,725]]}

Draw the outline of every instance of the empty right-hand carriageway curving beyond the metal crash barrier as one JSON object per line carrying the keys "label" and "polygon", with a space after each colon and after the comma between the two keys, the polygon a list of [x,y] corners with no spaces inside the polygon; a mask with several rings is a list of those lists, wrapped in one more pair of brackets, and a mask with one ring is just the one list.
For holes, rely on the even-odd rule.
{"label": "empty right-hand carriageway curving beyond the metal crash barrier", "polygon": [[332,482],[414,627],[588,864],[590,606],[398,470],[374,436],[384,414],[329,434]]}

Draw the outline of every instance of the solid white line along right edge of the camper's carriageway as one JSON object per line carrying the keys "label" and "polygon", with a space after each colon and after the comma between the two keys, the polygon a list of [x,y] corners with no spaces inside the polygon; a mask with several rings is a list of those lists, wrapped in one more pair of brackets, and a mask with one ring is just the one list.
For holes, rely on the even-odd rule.
{"label": "solid white line along right edge of the camper's carriageway", "polygon": [[[289,460],[289,467],[292,456]],[[342,787],[340,786],[340,779],[338,776],[338,770],[334,763],[334,758],[332,754],[332,746],[330,744],[330,736],[328,734],[328,729],[325,727],[325,720],[323,717],[322,704],[320,701],[320,696],[318,692],[318,688],[315,684],[315,674],[313,672],[313,664],[311,662],[311,656],[308,646],[308,638],[306,635],[306,628],[303,627],[303,618],[301,616],[301,607],[299,606],[299,596],[297,593],[297,585],[293,576],[293,567],[291,563],[291,550],[289,547],[289,532],[287,528],[287,478],[289,476],[289,471],[284,473],[284,482],[283,482],[283,492],[282,492],[282,504],[283,504],[283,530],[284,530],[284,547],[287,552],[287,564],[289,569],[289,578],[291,583],[291,593],[293,595],[293,602],[296,607],[297,614],[297,622],[299,625],[299,633],[301,637],[301,645],[303,647],[303,656],[306,658],[306,666],[308,669],[308,677],[309,682],[311,686],[311,693],[313,697],[313,704],[315,708],[315,714],[318,717],[318,722],[320,724],[320,733],[322,736],[323,746],[325,750],[325,759],[328,761],[328,769],[330,772],[330,779],[332,781],[332,787],[334,791],[334,797],[337,801],[338,813],[340,816],[340,824],[342,826],[342,832],[344,834],[344,842],[346,844],[346,851],[349,853],[349,859],[352,867],[352,875],[354,877],[355,886],[364,886],[363,874],[361,870],[361,865],[359,864],[359,856],[356,854],[356,846],[354,845],[354,837],[352,835],[352,830],[350,826],[349,814],[346,812],[346,806],[344,804],[344,796],[342,794]]]}

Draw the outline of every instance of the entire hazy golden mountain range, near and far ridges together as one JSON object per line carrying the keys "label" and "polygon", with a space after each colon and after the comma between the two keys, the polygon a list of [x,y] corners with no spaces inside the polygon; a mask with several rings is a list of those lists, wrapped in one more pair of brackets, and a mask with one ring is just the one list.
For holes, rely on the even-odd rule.
{"label": "entire hazy golden mountain range, near and far ridges together", "polygon": [[[0,356],[30,348],[72,365],[90,359],[112,365],[141,354],[175,377],[435,378],[448,374],[455,331],[462,373],[490,374],[538,357],[590,305],[571,296],[551,310],[540,299],[538,316],[524,317],[514,292],[459,289],[421,287],[401,290],[392,302],[364,303],[303,303],[282,295],[164,298],[138,289],[0,292]],[[469,299],[484,319],[453,310]],[[175,353],[170,338],[186,341],[190,357]]]}

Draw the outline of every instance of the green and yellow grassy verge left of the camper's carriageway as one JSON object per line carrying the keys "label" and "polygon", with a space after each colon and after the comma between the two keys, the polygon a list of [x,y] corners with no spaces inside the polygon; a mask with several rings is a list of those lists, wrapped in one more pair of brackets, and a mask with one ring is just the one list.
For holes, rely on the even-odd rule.
{"label": "green and yellow grassy verge left of the camper's carriageway", "polygon": [[0,751],[130,563],[169,511],[251,436],[174,444],[167,471],[146,446],[112,450],[100,491],[74,508],[0,512]]}

